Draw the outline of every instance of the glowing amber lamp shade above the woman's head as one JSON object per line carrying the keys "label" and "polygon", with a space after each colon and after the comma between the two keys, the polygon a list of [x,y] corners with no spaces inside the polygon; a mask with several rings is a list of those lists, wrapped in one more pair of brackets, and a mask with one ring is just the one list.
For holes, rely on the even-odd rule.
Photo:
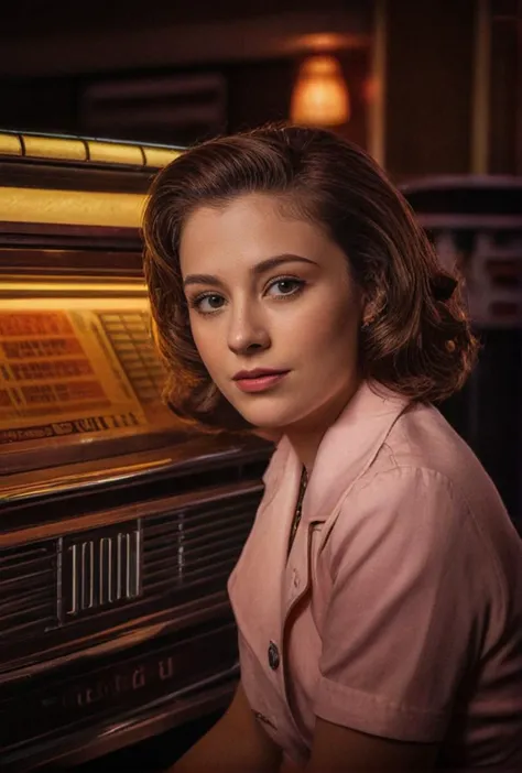
{"label": "glowing amber lamp shade above the woman's head", "polygon": [[300,67],[291,104],[294,123],[335,127],[350,118],[350,97],[335,56],[306,58]]}

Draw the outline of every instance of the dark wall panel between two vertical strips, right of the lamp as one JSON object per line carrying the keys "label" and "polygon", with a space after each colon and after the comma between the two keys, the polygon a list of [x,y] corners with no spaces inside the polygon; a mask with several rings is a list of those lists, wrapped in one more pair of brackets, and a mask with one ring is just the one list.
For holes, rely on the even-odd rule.
{"label": "dark wall panel between two vertical strips, right of the lamp", "polygon": [[390,3],[387,165],[396,176],[469,171],[475,4]]}

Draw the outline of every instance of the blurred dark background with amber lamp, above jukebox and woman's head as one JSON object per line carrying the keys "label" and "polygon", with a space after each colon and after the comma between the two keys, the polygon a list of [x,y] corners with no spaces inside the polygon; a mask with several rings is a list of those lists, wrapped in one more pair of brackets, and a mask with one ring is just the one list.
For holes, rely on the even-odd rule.
{"label": "blurred dark background with amber lamp, above jukebox and woman's head", "polygon": [[519,0],[18,0],[0,126],[184,144],[306,119],[315,78],[312,120],[396,181],[515,174],[520,24]]}

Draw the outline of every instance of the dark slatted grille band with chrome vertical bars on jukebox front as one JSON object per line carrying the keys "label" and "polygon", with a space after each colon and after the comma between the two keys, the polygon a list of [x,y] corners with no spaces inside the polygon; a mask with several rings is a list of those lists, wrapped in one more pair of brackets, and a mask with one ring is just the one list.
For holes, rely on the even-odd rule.
{"label": "dark slatted grille band with chrome vertical bars on jukebox front", "polygon": [[[14,642],[31,649],[35,636],[63,628],[73,633],[84,620],[95,633],[122,616],[138,620],[225,590],[259,499],[252,488],[204,503],[195,498],[135,523],[0,549],[1,651],[11,660]],[[140,544],[134,545],[135,535]],[[120,573],[129,588],[118,574],[120,537],[132,552],[131,557],[123,553]]]}

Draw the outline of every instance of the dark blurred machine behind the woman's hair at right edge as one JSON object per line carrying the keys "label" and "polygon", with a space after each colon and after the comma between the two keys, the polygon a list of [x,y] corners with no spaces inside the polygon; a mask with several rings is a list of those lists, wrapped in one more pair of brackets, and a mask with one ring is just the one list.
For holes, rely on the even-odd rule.
{"label": "dark blurred machine behind the woman's hair at right edge", "polygon": [[478,367],[443,412],[522,532],[522,178],[425,178],[403,193],[442,262],[466,280]]}

